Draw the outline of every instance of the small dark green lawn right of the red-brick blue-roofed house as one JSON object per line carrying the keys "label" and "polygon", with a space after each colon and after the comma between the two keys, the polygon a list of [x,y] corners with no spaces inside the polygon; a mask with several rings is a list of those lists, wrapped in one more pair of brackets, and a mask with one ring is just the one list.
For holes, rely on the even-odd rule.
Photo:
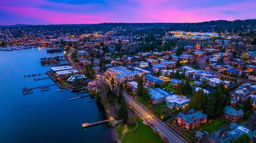
{"label": "small dark green lawn right of the red-brick blue-roofed house", "polygon": [[218,128],[223,126],[224,124],[226,124],[226,122],[224,120],[218,119],[209,124],[200,125],[198,127],[198,130],[204,130],[211,134],[212,132],[214,132],[215,130],[217,130]]}

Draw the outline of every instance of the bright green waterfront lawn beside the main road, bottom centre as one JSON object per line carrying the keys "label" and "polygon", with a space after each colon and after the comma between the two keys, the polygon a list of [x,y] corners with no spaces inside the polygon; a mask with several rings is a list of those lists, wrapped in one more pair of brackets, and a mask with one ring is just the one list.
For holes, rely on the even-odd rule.
{"label": "bright green waterfront lawn beside the main road, bottom centre", "polygon": [[143,124],[142,119],[138,119],[138,127],[128,132],[122,143],[162,143],[162,140],[150,126]]}

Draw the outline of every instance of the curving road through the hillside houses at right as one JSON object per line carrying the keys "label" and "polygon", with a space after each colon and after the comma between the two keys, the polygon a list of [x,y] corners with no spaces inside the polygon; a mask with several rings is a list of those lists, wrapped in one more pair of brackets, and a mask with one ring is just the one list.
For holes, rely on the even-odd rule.
{"label": "curving road through the hillside houses at right", "polygon": [[[197,58],[197,63],[199,65],[199,67],[202,69],[202,70],[205,70],[205,71],[208,71],[208,72],[211,72],[213,74],[216,75],[216,77],[228,77],[220,72],[217,72],[217,71],[214,71],[213,69],[207,67],[206,65],[206,60],[209,59],[209,58],[212,58],[214,54],[211,54],[211,55],[207,55],[207,56],[204,56],[204,57],[201,57],[201,58]],[[237,78],[237,77],[232,77],[234,79],[236,79],[238,82],[243,82],[243,83],[255,83],[255,81],[250,81],[249,79],[246,79],[246,78]]]}

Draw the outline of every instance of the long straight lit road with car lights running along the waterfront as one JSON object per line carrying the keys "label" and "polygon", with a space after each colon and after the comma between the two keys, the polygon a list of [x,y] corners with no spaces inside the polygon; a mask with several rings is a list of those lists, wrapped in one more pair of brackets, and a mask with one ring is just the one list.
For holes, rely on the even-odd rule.
{"label": "long straight lit road with car lights running along the waterfront", "polygon": [[146,107],[141,105],[141,103],[139,103],[133,97],[128,95],[128,93],[126,93],[125,91],[123,93],[127,103],[135,109],[137,114],[145,120],[153,123],[156,127],[158,127],[160,134],[166,139],[168,139],[170,143],[187,143],[187,141],[185,141],[182,137],[180,137],[173,130],[171,130],[166,124],[160,121],[160,119],[158,119],[152,113],[150,113]]}

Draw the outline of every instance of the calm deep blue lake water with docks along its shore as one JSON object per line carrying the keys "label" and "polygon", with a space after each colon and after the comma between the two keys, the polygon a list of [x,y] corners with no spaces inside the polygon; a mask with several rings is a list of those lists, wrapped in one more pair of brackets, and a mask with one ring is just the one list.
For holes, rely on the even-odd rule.
{"label": "calm deep blue lake water with docks along its shore", "polygon": [[[51,55],[60,55],[53,53]],[[106,119],[97,102],[87,103],[91,97],[67,101],[78,96],[69,91],[57,92],[34,89],[23,95],[22,87],[50,85],[51,79],[34,81],[23,74],[43,73],[40,57],[49,56],[46,49],[33,48],[0,51],[0,143],[113,143],[107,124],[84,130],[83,122]],[[45,75],[47,76],[47,75]]]}

